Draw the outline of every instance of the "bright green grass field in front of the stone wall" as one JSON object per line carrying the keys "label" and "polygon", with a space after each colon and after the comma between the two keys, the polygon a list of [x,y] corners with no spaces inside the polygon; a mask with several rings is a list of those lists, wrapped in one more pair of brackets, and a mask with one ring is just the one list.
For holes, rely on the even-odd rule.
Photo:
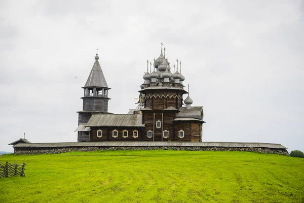
{"label": "bright green grass field in front of the stone wall", "polygon": [[1,155],[26,177],[0,202],[304,202],[304,159],[254,152],[97,151]]}

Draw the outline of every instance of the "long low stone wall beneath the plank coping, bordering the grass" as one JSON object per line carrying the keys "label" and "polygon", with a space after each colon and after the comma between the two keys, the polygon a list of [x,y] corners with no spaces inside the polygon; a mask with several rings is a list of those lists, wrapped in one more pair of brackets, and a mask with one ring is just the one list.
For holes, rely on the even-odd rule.
{"label": "long low stone wall beneath the plank coping, bordering the grass", "polygon": [[187,150],[187,151],[240,151],[282,154],[288,156],[286,149],[261,148],[261,147],[57,147],[57,148],[15,148],[15,154],[60,154],[72,151],[97,151],[97,150]]}

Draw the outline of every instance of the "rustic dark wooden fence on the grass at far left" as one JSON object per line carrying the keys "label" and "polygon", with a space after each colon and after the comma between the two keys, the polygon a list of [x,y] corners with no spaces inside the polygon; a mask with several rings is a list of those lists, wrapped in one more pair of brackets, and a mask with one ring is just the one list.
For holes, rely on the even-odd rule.
{"label": "rustic dark wooden fence on the grass at far left", "polygon": [[25,163],[12,164],[8,161],[6,163],[0,163],[0,178],[7,178],[9,176],[25,176]]}

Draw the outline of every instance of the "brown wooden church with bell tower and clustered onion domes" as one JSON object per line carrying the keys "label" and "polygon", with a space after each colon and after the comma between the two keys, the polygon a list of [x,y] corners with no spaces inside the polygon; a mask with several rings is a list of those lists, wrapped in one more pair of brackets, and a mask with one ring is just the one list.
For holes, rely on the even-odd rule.
{"label": "brown wooden church with bell tower and clustered onion domes", "polygon": [[[128,114],[108,112],[108,90],[96,53],[95,62],[83,87],[83,110],[79,111],[78,142],[163,141],[202,142],[203,107],[192,107],[184,90],[181,63],[173,73],[165,51],[154,60],[154,71],[143,75],[139,106]],[[183,95],[187,97],[183,100]]]}

